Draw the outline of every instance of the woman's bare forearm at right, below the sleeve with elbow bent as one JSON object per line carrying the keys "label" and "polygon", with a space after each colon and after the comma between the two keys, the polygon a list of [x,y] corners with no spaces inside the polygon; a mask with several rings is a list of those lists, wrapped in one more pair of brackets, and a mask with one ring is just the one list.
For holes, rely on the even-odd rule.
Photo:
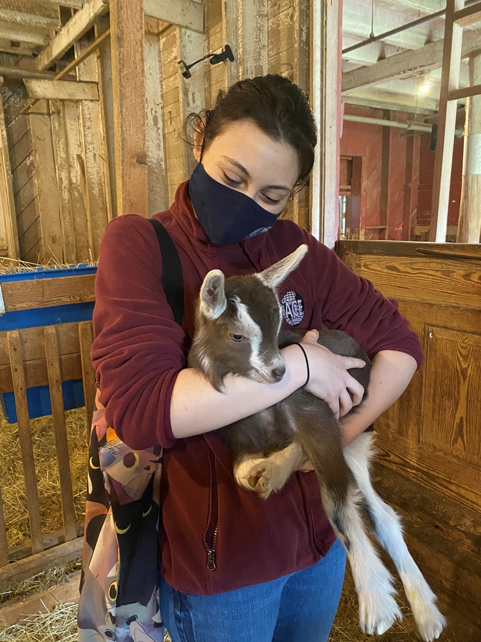
{"label": "woman's bare forearm at right, below the sleeve with elbow bent", "polygon": [[348,446],[359,437],[373,421],[387,410],[409,385],[416,360],[410,354],[393,350],[378,352],[373,359],[369,396],[359,412],[342,419],[343,446]]}

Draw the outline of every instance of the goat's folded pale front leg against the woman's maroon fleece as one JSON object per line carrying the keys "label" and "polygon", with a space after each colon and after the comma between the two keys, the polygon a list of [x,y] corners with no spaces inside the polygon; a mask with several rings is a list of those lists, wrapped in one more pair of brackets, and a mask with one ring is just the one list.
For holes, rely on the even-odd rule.
{"label": "goat's folded pale front leg against the woman's maroon fleece", "polygon": [[234,464],[235,480],[242,488],[255,490],[263,499],[267,499],[271,492],[283,488],[305,458],[303,449],[296,442],[267,457],[262,453],[241,455]]}

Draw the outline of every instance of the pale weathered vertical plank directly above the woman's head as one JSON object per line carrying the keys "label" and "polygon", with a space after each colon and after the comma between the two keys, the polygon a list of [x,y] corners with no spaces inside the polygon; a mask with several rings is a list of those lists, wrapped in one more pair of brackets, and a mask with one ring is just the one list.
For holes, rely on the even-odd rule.
{"label": "pale weathered vertical plank directly above the woman's head", "polygon": [[239,79],[264,76],[269,70],[267,0],[242,0],[239,30]]}

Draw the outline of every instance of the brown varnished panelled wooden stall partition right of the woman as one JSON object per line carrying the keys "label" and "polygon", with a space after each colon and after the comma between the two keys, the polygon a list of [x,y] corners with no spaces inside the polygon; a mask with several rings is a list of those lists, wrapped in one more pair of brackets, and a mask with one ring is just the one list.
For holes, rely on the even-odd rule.
{"label": "brown varnished panelled wooden stall partition right of the woman", "polygon": [[[423,366],[376,421],[378,461],[391,471],[386,477],[401,474],[420,485],[418,507],[414,497],[400,499],[413,516],[408,534],[419,523],[418,541],[409,542],[413,552],[423,568],[430,566],[448,602],[479,615],[481,246],[339,241],[337,253],[385,297],[398,300],[421,340]],[[391,486],[394,494],[402,488]]]}

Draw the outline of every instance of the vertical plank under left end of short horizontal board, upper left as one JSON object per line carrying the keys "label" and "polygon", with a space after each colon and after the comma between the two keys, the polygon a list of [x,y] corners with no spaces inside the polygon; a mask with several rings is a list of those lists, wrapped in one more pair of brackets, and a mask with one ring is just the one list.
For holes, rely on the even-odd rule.
{"label": "vertical plank under left end of short horizontal board, upper left", "polygon": [[42,257],[44,261],[63,263],[62,226],[47,101],[38,101],[37,110],[29,118],[42,230]]}

